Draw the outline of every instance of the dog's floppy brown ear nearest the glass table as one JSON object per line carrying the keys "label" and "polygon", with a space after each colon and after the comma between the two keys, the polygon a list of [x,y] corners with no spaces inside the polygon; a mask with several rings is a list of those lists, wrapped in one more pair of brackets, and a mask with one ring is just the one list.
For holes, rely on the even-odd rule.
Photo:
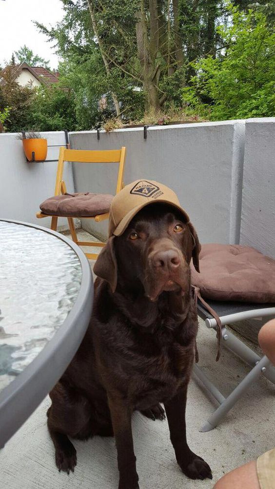
{"label": "dog's floppy brown ear nearest the glass table", "polygon": [[114,247],[115,236],[111,236],[106,246],[102,249],[98,255],[97,261],[94,266],[94,273],[106,280],[112,289],[115,291],[117,286],[117,261]]}

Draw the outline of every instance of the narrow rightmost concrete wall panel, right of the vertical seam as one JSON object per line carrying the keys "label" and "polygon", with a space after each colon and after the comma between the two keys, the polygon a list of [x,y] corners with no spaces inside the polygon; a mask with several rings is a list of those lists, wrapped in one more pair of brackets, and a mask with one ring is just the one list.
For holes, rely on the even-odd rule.
{"label": "narrow rightmost concrete wall panel, right of the vertical seam", "polygon": [[240,243],[275,258],[275,117],[246,121]]}

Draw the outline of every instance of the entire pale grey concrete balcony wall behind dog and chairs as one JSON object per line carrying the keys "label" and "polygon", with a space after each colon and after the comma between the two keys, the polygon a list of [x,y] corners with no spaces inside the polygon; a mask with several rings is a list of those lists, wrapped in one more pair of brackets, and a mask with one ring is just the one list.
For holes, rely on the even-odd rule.
{"label": "entire pale grey concrete balcony wall behind dog and chairs", "polygon": [[[57,159],[63,132],[43,133]],[[50,226],[35,217],[54,193],[57,162],[27,163],[15,134],[0,134],[0,217]],[[70,133],[75,149],[127,147],[125,183],[156,179],[175,190],[202,243],[241,243],[275,257],[275,118]],[[118,165],[65,164],[68,191],[115,192]],[[66,226],[66,220],[59,220]],[[106,236],[107,222],[83,220]]]}

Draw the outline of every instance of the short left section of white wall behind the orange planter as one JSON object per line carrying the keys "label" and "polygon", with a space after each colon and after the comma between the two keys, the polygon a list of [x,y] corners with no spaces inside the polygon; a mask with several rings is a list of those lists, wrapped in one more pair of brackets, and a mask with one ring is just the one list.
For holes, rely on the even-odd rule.
{"label": "short left section of white wall behind the orange planter", "polygon": [[[59,146],[65,144],[63,132],[42,133],[47,138],[47,159],[58,159]],[[0,134],[0,217],[50,227],[50,218],[37,219],[39,204],[54,195],[57,162],[27,163],[22,142],[16,134]],[[64,180],[74,190],[71,163],[65,163]],[[67,220],[59,219],[67,227]]]}

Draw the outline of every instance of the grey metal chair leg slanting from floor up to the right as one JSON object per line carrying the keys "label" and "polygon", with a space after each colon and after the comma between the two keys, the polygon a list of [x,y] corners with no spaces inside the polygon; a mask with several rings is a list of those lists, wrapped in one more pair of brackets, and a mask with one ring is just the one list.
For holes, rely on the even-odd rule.
{"label": "grey metal chair leg slanting from floor up to the right", "polygon": [[249,372],[249,374],[237,385],[233,392],[224,400],[221,405],[215,410],[200,428],[199,431],[205,432],[212,430],[219,424],[230,411],[233,405],[240,399],[241,396],[249,389],[253,382],[260,377],[262,369],[265,369],[271,365],[267,356],[263,356],[261,360],[255,365],[255,367]]}

